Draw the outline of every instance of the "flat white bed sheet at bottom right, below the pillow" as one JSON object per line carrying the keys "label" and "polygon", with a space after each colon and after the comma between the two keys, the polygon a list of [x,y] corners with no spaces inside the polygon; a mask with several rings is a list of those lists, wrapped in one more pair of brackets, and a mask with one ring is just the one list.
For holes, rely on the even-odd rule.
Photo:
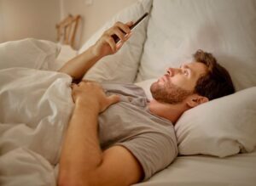
{"label": "flat white bed sheet at bottom right, below the pillow", "polygon": [[226,158],[178,156],[172,165],[134,186],[255,186],[256,150]]}

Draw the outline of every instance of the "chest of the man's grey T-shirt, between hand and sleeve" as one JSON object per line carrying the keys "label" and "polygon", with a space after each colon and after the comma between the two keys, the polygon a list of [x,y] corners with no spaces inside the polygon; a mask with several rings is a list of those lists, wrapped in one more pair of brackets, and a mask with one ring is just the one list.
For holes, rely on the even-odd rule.
{"label": "chest of the man's grey T-shirt, between hand and sleeve", "polygon": [[167,132],[170,123],[152,116],[142,100],[122,98],[99,116],[99,138],[102,149],[115,143],[137,138],[146,132]]}

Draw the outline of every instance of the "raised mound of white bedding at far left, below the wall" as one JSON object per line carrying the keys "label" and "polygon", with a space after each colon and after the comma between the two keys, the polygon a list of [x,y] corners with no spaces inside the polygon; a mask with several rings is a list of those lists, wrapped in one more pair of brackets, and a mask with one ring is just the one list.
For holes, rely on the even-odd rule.
{"label": "raised mound of white bedding at far left, below the wall", "polygon": [[26,38],[0,44],[0,69],[24,67],[48,70],[60,52],[55,42]]}

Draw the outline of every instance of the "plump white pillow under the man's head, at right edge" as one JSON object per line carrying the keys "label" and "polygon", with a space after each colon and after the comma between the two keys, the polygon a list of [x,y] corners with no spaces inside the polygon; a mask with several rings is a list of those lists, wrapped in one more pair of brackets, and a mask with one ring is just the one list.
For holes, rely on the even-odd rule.
{"label": "plump white pillow under the man's head, at right edge", "polygon": [[224,157],[256,147],[256,87],[201,104],[177,121],[180,155]]}

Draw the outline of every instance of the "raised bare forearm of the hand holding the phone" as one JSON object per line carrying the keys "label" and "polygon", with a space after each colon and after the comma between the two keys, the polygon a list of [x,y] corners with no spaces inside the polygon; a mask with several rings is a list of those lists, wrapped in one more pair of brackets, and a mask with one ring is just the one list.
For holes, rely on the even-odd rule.
{"label": "raised bare forearm of the hand holding the phone", "polygon": [[59,71],[72,76],[74,80],[79,80],[101,58],[102,56],[94,53],[92,46],[84,51],[84,53],[69,60]]}

